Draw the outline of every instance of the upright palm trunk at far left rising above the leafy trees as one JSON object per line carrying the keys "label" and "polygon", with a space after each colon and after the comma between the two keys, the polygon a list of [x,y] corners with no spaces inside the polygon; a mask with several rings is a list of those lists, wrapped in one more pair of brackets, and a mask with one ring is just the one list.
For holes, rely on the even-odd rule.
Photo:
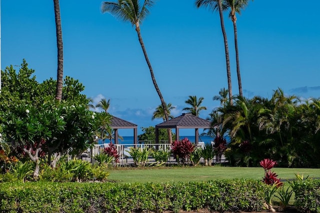
{"label": "upright palm trunk at far left rising above the leafy trees", "polygon": [[54,18],[55,18],[55,31],[56,31],[56,46],[58,51],[55,99],[61,100],[62,84],[63,84],[63,43],[62,43],[62,28],[61,28],[59,0],[53,0],[53,4],[54,4]]}

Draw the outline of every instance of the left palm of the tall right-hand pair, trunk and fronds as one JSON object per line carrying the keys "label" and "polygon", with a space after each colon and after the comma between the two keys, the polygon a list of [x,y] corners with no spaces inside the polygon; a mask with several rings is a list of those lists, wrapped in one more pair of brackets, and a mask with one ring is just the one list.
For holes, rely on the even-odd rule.
{"label": "left palm of the tall right-hand pair, trunk and fronds", "polygon": [[196,5],[196,7],[204,6],[204,7],[209,7],[212,10],[218,9],[218,11],[219,11],[220,25],[221,25],[221,31],[222,31],[222,35],[223,35],[223,41],[224,41],[226,77],[227,77],[227,81],[228,81],[228,91],[229,91],[229,104],[232,105],[232,87],[231,87],[229,48],[228,48],[228,41],[226,38],[226,32],[225,32],[225,28],[224,28],[221,0],[195,0],[195,5]]}

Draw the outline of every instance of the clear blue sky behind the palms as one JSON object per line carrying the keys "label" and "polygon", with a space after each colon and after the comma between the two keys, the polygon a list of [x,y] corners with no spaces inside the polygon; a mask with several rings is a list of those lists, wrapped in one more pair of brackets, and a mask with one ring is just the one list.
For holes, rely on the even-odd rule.
{"label": "clear blue sky behind the palms", "polygon": [[[60,0],[64,76],[78,79],[96,102],[111,100],[109,112],[147,127],[160,104],[136,32],[129,23],[100,11],[101,0]],[[240,70],[246,97],[320,97],[320,23],[312,8],[320,1],[249,2],[237,16]],[[238,93],[232,22],[227,30],[233,94]],[[219,16],[197,9],[194,0],[158,0],[141,34],[164,100],[178,116],[189,95],[204,97],[200,117],[219,105],[212,97],[227,88]],[[1,69],[25,58],[42,82],[56,79],[56,38],[52,0],[1,0]],[[18,66],[16,67],[18,69]],[[140,128],[138,134],[141,133]],[[131,132],[119,132],[131,135]],[[193,130],[180,135],[192,135]]]}

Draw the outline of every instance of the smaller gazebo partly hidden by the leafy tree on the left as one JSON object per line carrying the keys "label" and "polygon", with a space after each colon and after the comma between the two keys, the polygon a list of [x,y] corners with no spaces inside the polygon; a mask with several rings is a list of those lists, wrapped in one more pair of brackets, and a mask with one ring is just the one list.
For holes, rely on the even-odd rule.
{"label": "smaller gazebo partly hidden by the leafy tree on the left", "polygon": [[133,129],[133,144],[137,144],[137,125],[112,115],[110,128],[114,129],[114,143],[118,144],[118,129]]}

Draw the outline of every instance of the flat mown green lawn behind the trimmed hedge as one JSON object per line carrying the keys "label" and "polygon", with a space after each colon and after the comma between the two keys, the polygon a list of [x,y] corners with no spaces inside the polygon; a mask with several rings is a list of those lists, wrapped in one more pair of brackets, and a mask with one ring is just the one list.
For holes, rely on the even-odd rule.
{"label": "flat mown green lawn behind the trimmed hedge", "polygon": [[[320,169],[273,168],[281,180],[295,179],[295,173],[303,177],[320,178]],[[160,168],[119,168],[110,170],[108,180],[119,183],[163,183],[207,181],[213,179],[262,179],[264,171],[261,167],[160,167]]]}

